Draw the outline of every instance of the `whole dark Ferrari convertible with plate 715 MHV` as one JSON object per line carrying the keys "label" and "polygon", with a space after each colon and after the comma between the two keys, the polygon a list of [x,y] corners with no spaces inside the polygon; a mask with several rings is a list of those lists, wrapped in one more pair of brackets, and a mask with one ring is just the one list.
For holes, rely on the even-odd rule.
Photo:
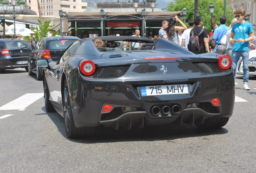
{"label": "whole dark Ferrari convertible with plate 715 MHV", "polygon": [[[96,47],[96,39],[105,47]],[[233,113],[229,56],[196,55],[163,38],[85,38],[71,44],[58,62],[36,63],[45,67],[45,109],[64,116],[70,138],[86,129],[81,127],[99,125],[219,128]]]}

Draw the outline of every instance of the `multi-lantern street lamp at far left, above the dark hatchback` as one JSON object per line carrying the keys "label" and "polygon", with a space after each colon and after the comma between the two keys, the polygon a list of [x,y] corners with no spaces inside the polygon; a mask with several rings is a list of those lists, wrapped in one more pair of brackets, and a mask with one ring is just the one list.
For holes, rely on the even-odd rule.
{"label": "multi-lantern street lamp at far left, above the dark hatchback", "polygon": [[[16,1],[17,1],[17,0],[11,0],[12,6],[13,6],[13,12],[12,12],[12,14],[9,14],[9,15],[13,18],[13,24],[14,24],[14,38],[16,38],[15,19],[19,16],[19,14],[17,14],[17,13],[15,12],[15,6],[17,6]],[[3,2],[2,4],[3,4],[4,12],[5,12],[5,14],[6,14],[7,8],[8,8],[8,1],[7,1],[7,0],[4,0],[4,2]],[[19,4],[20,4],[21,12],[23,13],[23,12],[24,12],[24,9],[25,9],[25,1],[24,1],[24,0],[21,0]],[[4,30],[4,32],[5,32],[5,30]]]}

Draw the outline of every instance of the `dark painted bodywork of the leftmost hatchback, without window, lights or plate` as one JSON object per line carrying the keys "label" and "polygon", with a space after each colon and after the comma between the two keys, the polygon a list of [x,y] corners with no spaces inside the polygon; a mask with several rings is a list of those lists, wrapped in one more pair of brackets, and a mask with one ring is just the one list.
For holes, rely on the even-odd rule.
{"label": "dark painted bodywork of the leftmost hatchback, without window, lights or plate", "polygon": [[[8,48],[6,47],[6,42],[24,42],[26,47],[23,48]],[[9,50],[9,56],[3,55],[0,53],[0,70],[1,69],[12,69],[12,68],[26,68],[27,64],[17,64],[17,61],[26,61],[28,60],[29,54],[31,54],[32,47],[26,40],[19,40],[19,39],[12,39],[12,38],[5,38],[0,39],[0,51],[2,49],[7,48]]]}

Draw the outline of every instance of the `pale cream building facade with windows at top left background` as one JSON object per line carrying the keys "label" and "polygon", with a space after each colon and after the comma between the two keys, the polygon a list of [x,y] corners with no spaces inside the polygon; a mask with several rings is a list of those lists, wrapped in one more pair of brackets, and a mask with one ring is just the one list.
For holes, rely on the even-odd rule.
{"label": "pale cream building facade with windows at top left background", "polygon": [[[37,0],[25,1],[38,14]],[[39,3],[43,16],[59,16],[59,9],[63,12],[83,12],[87,8],[87,2],[82,0],[39,0]]]}

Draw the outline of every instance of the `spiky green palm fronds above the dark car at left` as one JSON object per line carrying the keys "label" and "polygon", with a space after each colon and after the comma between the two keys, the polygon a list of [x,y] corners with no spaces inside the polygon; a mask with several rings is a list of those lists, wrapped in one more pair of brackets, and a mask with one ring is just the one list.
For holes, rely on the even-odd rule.
{"label": "spiky green palm fronds above the dark car at left", "polygon": [[[54,25],[50,25],[50,22],[51,20],[49,21],[44,20],[43,25],[41,25],[41,22],[38,20],[39,27],[32,28],[32,30],[35,32],[35,34],[33,35],[35,36],[36,42],[42,37],[47,37],[47,33],[50,32],[50,29],[54,26]],[[59,31],[54,32],[52,36],[56,36],[58,32]]]}

